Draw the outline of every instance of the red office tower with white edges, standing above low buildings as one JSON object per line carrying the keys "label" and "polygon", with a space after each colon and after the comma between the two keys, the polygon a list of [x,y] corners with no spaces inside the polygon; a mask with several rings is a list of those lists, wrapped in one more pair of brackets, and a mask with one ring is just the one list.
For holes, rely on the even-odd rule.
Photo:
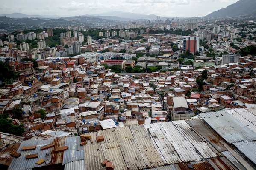
{"label": "red office tower with white edges, standing above low buildings", "polygon": [[183,52],[189,51],[195,53],[199,51],[200,38],[197,36],[184,36],[183,37]]}

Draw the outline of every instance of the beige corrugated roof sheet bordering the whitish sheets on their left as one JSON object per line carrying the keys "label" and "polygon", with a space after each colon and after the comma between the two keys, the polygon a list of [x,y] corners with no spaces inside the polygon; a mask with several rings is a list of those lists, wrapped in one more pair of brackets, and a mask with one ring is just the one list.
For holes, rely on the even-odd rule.
{"label": "beige corrugated roof sheet bordering the whitish sheets on their left", "polygon": [[147,167],[152,168],[164,165],[156,147],[152,143],[150,136],[147,134],[143,125],[129,126],[129,128]]}

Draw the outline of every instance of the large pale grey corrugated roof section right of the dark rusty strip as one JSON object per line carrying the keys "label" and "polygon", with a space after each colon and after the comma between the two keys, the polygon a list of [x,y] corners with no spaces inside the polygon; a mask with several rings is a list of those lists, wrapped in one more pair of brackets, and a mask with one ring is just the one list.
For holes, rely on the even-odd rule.
{"label": "large pale grey corrugated roof section right of the dark rusty strip", "polygon": [[256,140],[256,133],[226,111],[201,113],[200,116],[227,142]]}

